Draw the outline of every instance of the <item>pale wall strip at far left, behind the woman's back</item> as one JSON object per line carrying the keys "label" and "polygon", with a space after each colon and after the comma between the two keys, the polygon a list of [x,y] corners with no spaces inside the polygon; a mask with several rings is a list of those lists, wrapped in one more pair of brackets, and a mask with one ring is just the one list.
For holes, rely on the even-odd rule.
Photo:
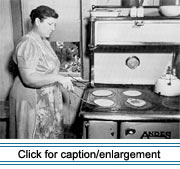
{"label": "pale wall strip at far left, behind the woman's back", "polygon": [[0,0],[0,100],[6,100],[12,85],[9,61],[14,49],[10,0]]}

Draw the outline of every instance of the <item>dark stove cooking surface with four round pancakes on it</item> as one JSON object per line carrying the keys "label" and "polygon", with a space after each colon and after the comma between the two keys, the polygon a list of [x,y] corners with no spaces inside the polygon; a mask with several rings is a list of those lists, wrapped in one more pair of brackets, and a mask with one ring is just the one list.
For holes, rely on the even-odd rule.
{"label": "dark stove cooking surface with four round pancakes on it", "polygon": [[142,86],[87,88],[83,100],[81,114],[88,118],[180,119],[180,96],[160,96]]}

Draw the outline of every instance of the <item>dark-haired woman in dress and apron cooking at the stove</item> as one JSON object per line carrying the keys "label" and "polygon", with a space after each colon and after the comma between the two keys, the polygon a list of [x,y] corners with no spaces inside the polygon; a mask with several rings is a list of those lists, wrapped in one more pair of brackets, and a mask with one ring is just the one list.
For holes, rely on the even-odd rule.
{"label": "dark-haired woman in dress and apron cooking at the stove", "polygon": [[60,62],[47,40],[58,14],[39,6],[30,14],[32,30],[22,37],[14,55],[19,76],[10,92],[11,138],[63,138],[61,88],[74,90],[59,74]]}

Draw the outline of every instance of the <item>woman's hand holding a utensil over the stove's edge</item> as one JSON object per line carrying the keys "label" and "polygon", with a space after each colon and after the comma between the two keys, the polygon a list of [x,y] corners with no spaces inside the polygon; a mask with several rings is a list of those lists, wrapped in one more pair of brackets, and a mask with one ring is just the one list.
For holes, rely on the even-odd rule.
{"label": "woman's hand holding a utensil over the stove's edge", "polygon": [[74,86],[70,77],[60,76],[58,82],[61,83],[63,87],[68,91],[74,91]]}

